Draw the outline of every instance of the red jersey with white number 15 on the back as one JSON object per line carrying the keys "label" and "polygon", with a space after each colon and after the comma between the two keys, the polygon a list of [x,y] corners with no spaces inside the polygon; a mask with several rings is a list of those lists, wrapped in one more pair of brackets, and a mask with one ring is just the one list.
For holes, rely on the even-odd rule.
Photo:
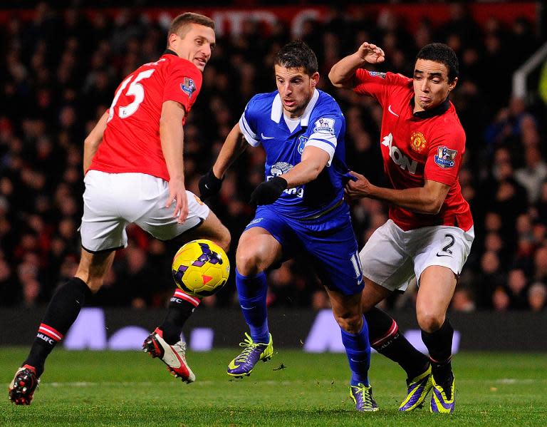
{"label": "red jersey with white number 15 on the back", "polygon": [[172,53],[137,68],[115,92],[103,142],[90,169],[146,173],[168,181],[160,142],[162,104],[181,103],[184,125],[201,87],[202,73],[198,68]]}

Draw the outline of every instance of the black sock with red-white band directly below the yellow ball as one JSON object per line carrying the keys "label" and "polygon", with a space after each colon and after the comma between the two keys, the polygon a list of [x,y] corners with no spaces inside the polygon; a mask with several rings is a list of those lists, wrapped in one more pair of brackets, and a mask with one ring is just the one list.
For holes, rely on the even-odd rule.
{"label": "black sock with red-white band directly below the yellow ball", "polygon": [[175,344],[180,341],[182,327],[188,320],[200,300],[177,289],[170,299],[167,307],[167,315],[163,323],[158,326],[163,332],[163,339],[167,344]]}

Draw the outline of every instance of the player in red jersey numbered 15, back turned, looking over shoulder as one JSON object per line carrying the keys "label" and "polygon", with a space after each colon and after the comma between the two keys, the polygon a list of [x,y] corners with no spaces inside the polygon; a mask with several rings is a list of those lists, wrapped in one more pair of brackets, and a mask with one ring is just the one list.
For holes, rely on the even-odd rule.
{"label": "player in red jersey numbered 15, back turned, looking over shoulder", "polygon": [[[30,354],[9,386],[14,403],[31,403],[46,357],[78,317],[85,298],[103,285],[116,249],[127,246],[128,224],[160,240],[200,237],[228,249],[226,227],[184,187],[182,125],[202,86],[214,43],[214,22],[207,16],[177,16],[165,53],[120,83],[109,110],[85,138],[80,264],[75,277],[53,295]],[[187,382],[195,376],[180,334],[198,304],[197,297],[177,289],[165,320],[143,344]]]}

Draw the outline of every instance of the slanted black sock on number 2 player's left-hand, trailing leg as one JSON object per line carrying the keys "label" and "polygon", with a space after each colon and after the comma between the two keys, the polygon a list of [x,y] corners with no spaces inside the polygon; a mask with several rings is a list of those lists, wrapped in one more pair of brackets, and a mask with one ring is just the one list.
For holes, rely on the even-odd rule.
{"label": "slanted black sock on number 2 player's left-hand, trailing leg", "polygon": [[365,313],[370,346],[405,369],[408,379],[422,374],[429,365],[427,356],[417,351],[404,335],[397,322],[389,314],[373,307]]}

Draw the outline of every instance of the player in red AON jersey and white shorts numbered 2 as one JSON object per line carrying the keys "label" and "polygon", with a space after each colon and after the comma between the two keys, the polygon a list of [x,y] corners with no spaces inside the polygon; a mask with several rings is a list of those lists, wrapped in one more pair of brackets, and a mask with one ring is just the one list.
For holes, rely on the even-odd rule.
{"label": "player in red AON jersey and white shorts numbered 2", "polygon": [[[384,58],[381,48],[363,43],[329,73],[334,86],[372,96],[383,108],[380,146],[391,187],[377,187],[353,173],[355,182],[345,188],[349,198],[390,204],[390,219],[360,252],[363,311],[373,348],[407,372],[407,398],[400,411],[421,406],[432,389],[430,411],[451,413],[454,329],[446,313],[474,239],[471,212],[458,182],[465,133],[448,99],[458,81],[458,60],[449,46],[431,43],[418,53],[413,78],[362,68]],[[395,320],[375,307],[392,292],[404,291],[413,277],[429,361],[399,334]]]}

